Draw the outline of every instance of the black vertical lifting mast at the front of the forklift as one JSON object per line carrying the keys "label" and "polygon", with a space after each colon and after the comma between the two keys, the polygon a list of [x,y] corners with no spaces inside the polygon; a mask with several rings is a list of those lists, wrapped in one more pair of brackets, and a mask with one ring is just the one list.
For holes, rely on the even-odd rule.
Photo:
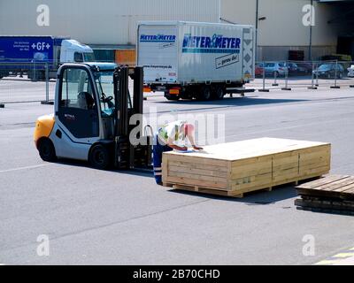
{"label": "black vertical lifting mast at the front of the forklift", "polygon": [[[129,76],[134,80],[133,108],[129,109]],[[133,115],[143,114],[143,68],[119,67],[113,73],[115,113],[114,113],[114,154],[115,166],[120,170],[133,168],[149,168],[152,155],[152,137],[141,136],[142,121],[139,125],[129,125]],[[142,142],[135,146],[130,140],[131,131],[139,128],[139,136]]]}

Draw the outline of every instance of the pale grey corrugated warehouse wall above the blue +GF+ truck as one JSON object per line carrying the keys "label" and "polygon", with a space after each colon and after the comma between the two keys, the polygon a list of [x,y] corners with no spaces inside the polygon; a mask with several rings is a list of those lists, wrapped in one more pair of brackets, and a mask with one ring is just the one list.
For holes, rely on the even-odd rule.
{"label": "pale grey corrugated warehouse wall above the blue +GF+ truck", "polygon": [[[36,24],[40,4],[50,7],[50,27]],[[135,44],[139,20],[179,19],[216,22],[219,0],[0,1],[0,34],[68,35],[89,44]]]}

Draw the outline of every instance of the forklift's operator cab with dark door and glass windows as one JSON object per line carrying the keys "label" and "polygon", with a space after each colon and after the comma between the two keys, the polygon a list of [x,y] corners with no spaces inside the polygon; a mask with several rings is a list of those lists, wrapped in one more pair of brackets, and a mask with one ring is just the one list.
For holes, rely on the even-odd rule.
{"label": "forklift's operator cab with dark door and glass windows", "polygon": [[[74,142],[113,139],[115,64],[63,65],[58,73],[56,118]],[[130,96],[127,108],[132,109]],[[119,118],[117,118],[119,119]]]}

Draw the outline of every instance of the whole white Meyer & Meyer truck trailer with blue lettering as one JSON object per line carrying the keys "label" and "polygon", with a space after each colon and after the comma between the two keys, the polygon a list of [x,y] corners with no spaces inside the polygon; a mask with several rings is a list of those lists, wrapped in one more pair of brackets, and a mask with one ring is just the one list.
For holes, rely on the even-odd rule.
{"label": "whole white Meyer & Meyer truck trailer with blue lettering", "polygon": [[137,65],[144,91],[168,100],[222,99],[254,78],[255,28],[184,21],[138,25]]}

